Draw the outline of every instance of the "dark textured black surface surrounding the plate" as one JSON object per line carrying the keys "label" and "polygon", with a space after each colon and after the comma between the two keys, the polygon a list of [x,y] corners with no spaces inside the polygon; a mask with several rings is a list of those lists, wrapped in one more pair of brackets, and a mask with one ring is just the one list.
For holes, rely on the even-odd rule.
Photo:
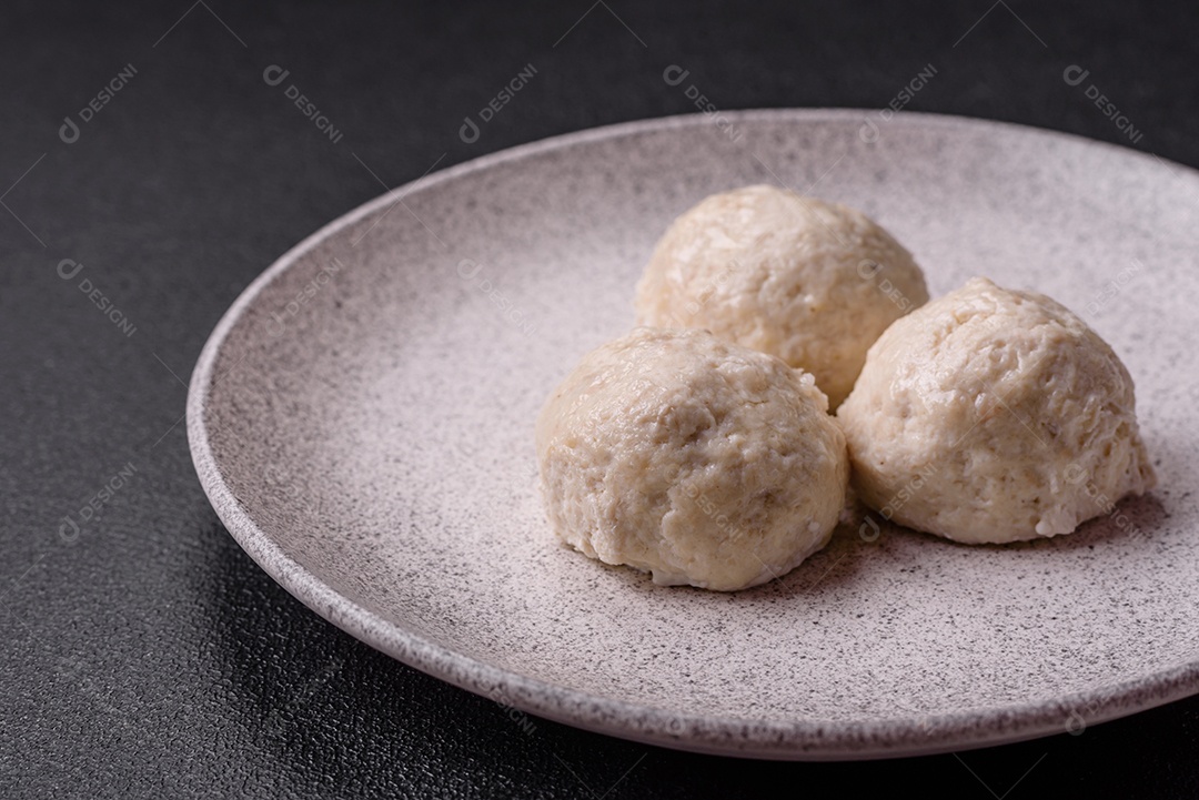
{"label": "dark textured black surface surrounding the plate", "polygon": [[[729,109],[878,108],[933,63],[912,109],[1122,141],[1085,85],[1062,80],[1080,65],[1140,150],[1199,164],[1194,4],[589,5],[6,4],[0,794],[665,798],[885,781],[962,798],[1195,796],[1199,698],[1080,735],[864,764],[701,757],[541,720],[530,732],[326,624],[224,532],[188,456],[185,381],[259,272],[384,190],[359,159],[396,186],[441,153],[446,166],[693,111],[662,80],[671,63]],[[526,63],[534,80],[460,141],[463,117]],[[126,65],[132,81],[65,144],[64,117]],[[287,84],[264,83],[270,65],[341,141]],[[64,259],[83,272],[60,278]]]}

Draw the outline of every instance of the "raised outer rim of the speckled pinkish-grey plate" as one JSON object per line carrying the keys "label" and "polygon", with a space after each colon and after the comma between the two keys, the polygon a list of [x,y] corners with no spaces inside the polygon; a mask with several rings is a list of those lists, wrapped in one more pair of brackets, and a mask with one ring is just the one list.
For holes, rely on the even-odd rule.
{"label": "raised outer rim of the speckled pinkish-grey plate", "polygon": [[[770,121],[797,123],[864,122],[878,109],[781,108],[727,110],[737,122]],[[459,653],[433,637],[385,619],[354,602],[291,558],[258,527],[225,483],[209,441],[204,419],[209,399],[219,376],[216,363],[229,333],[258,296],[308,251],[338,232],[386,207],[394,198],[421,188],[454,181],[495,165],[596,140],[616,139],[647,131],[698,128],[711,125],[704,114],[683,114],[620,122],[554,135],[517,145],[448,166],[390,189],[336,217],[306,236],[275,260],[246,286],[212,329],[192,370],[187,390],[187,438],[192,462],[205,496],[251,558],[293,596],[320,617],[361,642],[434,678],[488,697],[518,711],[578,728],[676,750],[789,760],[844,760],[894,758],[951,752],[1008,744],[1070,732],[1078,716],[1083,727],[1163,705],[1199,692],[1199,657],[1189,663],[1143,674],[1116,684],[1053,699],[1004,704],[988,709],[910,717],[840,722],[819,719],[764,721],[724,715],[680,714],[556,685],[488,663]],[[1191,166],[1153,153],[1086,137],[1014,122],[917,111],[896,113],[888,126],[934,126],[942,128],[1017,131],[1024,135],[1066,139],[1087,147],[1119,151],[1167,166],[1195,180]],[[1085,709],[1086,716],[1078,714]],[[916,720],[921,721],[916,721]]]}

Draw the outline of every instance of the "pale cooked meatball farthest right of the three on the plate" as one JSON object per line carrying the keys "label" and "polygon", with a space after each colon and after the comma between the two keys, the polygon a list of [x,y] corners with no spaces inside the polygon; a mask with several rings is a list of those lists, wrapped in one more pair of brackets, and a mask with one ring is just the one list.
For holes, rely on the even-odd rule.
{"label": "pale cooked meatball farthest right of the three on the plate", "polygon": [[957,541],[1070,533],[1155,484],[1111,347],[984,278],[887,328],[837,417],[863,502]]}

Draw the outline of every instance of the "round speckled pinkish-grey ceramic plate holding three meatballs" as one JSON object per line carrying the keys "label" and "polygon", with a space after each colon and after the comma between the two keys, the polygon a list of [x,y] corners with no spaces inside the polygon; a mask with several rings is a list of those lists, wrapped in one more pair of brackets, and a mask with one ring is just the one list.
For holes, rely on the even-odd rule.
{"label": "round speckled pinkish-grey ceramic plate holding three meatballs", "polygon": [[[1018,546],[846,525],[739,594],[558,545],[542,400],[632,325],[667,224],[753,182],[863,208],[934,295],[986,274],[1076,309],[1137,381],[1159,489]],[[1199,691],[1197,201],[1197,174],[1151,156],[926,115],[748,111],[517,147],[362,206],[255,280],[192,377],[192,454],[288,590],[513,715],[766,758],[1077,732]]]}

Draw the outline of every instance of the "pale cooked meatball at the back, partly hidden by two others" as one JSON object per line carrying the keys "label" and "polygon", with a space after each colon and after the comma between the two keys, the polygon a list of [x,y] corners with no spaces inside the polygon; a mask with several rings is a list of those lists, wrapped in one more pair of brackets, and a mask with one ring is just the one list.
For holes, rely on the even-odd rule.
{"label": "pale cooked meatball at the back, partly hidden by two others", "polygon": [[640,325],[706,328],[812,372],[836,408],[870,344],[927,301],[911,254],[866,214],[749,186],[670,225],[634,304]]}

